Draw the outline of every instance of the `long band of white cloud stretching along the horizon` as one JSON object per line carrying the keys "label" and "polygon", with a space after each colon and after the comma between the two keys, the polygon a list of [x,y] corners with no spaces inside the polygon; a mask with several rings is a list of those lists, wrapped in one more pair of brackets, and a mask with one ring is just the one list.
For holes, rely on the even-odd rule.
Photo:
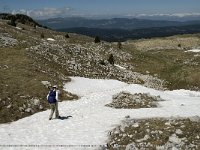
{"label": "long band of white cloud stretching along the horizon", "polygon": [[[41,9],[34,9],[34,10],[13,10],[12,14],[25,14],[30,17],[36,18],[36,19],[47,19],[47,18],[54,18],[54,17],[98,17],[98,16],[109,16],[108,14],[100,15],[100,14],[94,14],[94,13],[88,13],[88,12],[80,12],[80,11],[74,11],[71,7],[62,7],[62,8],[41,8]],[[116,16],[111,15],[110,16]],[[128,14],[128,15],[119,15],[118,16],[125,16],[125,17],[177,17],[177,18],[183,18],[183,17],[198,17],[200,16],[200,13],[154,13],[154,14]]]}

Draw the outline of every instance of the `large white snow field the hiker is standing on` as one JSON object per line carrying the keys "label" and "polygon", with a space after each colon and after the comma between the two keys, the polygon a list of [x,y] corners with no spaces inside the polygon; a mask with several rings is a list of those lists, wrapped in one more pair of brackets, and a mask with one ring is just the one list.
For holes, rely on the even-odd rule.
{"label": "large white snow field the hiker is standing on", "polygon": [[[98,149],[105,145],[108,132],[129,115],[130,118],[200,116],[200,92],[188,90],[157,91],[117,80],[71,77],[65,90],[77,94],[76,101],[59,102],[61,116],[68,119],[48,120],[50,110],[18,121],[0,125],[0,149]],[[114,109],[106,107],[112,96],[121,91],[160,95],[165,101],[158,108]],[[8,147],[8,145],[39,145],[41,147]],[[64,147],[61,147],[64,146]],[[55,148],[53,147],[53,148]]]}

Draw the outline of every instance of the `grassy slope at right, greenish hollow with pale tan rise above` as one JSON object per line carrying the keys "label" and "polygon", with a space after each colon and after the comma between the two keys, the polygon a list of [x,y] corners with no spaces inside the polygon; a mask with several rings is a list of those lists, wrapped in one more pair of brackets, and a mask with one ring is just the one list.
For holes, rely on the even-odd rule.
{"label": "grassy slope at right, greenish hollow with pale tan rise above", "polygon": [[[184,38],[186,40],[183,40]],[[196,53],[186,53],[185,50],[198,46],[198,34],[130,41],[123,44],[123,48],[132,53],[133,58],[128,63],[134,66],[134,71],[148,71],[151,75],[166,80],[169,89],[193,90],[200,89],[200,56]]]}

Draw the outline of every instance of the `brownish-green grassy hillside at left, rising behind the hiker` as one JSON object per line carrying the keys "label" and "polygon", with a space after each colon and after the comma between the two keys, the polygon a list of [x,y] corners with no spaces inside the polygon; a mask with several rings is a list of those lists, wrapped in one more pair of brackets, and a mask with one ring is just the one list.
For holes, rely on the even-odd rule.
{"label": "brownish-green grassy hillside at left, rising behind the hiker", "polygon": [[[41,81],[59,85],[62,100],[77,98],[62,90],[64,80],[59,75],[67,75],[66,70],[59,70],[59,66],[53,63],[44,65],[45,60],[38,59],[39,57],[26,51],[27,47],[37,44],[41,32],[45,32],[46,35],[51,33],[41,28],[22,26],[25,30],[16,30],[6,24],[0,26],[3,32],[9,33],[19,42],[13,47],[0,47],[0,123],[17,120],[48,108],[48,88]],[[66,77],[64,82],[68,81],[70,79]],[[33,99],[38,99],[40,105],[34,105]],[[27,108],[31,108],[31,111],[26,111]]]}

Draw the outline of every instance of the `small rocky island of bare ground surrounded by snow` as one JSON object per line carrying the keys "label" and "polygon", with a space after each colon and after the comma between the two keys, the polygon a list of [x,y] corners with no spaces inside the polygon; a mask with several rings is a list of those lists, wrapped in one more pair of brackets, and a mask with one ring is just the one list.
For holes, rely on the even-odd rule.
{"label": "small rocky island of bare ground surrounded by snow", "polygon": [[145,93],[131,94],[129,92],[120,92],[113,96],[113,101],[107,104],[108,107],[137,109],[158,107],[158,101],[163,101],[159,96],[151,96]]}

